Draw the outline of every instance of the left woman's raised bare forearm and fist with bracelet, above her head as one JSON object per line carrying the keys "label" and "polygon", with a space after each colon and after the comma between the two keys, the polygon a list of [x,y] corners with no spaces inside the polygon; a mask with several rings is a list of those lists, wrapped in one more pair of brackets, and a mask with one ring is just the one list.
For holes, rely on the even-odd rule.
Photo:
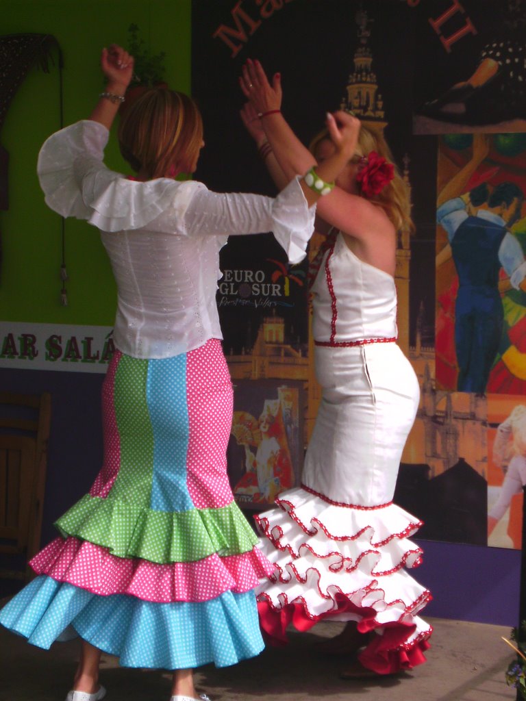
{"label": "left woman's raised bare forearm and fist with bracelet, above her head", "polygon": [[133,76],[133,56],[112,44],[102,49],[100,67],[107,83],[89,118],[110,129]]}

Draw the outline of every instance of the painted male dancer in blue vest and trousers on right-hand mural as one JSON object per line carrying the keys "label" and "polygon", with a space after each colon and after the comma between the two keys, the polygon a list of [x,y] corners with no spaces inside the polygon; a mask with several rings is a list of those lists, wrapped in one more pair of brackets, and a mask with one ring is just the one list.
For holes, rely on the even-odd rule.
{"label": "painted male dancer in blue vest and trousers on right-hand mural", "polygon": [[483,394],[501,339],[504,313],[499,271],[515,289],[526,275],[518,240],[508,228],[520,217],[524,194],[512,182],[498,184],[486,203],[473,210],[470,193],[447,198],[467,182],[487,155],[487,137],[475,135],[473,157],[440,193],[437,221],[447,232],[459,278],[455,305],[457,389]]}

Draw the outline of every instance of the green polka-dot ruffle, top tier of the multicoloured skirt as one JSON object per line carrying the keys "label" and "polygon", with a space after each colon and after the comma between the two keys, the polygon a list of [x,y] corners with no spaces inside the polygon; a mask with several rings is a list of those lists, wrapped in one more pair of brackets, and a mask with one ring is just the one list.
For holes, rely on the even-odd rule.
{"label": "green polka-dot ruffle, top tier of the multicoloured skirt", "polygon": [[64,538],[88,540],[107,547],[116,557],[161,564],[195,562],[213,553],[241,554],[257,543],[234,502],[217,509],[168,512],[86,494],[55,526]]}

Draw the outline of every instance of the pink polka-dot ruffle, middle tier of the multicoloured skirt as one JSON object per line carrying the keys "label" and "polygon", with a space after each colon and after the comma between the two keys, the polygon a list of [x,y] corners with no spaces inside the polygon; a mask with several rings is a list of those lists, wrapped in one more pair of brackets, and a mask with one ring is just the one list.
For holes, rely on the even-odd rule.
{"label": "pink polka-dot ruffle, middle tier of the multicoloured skirt", "polygon": [[128,594],[159,604],[209,601],[227,591],[242,594],[255,589],[273,569],[257,547],[229,557],[213,554],[198,562],[156,564],[116,557],[100,545],[76,538],[56,538],[30,565],[39,575],[92,594]]}

